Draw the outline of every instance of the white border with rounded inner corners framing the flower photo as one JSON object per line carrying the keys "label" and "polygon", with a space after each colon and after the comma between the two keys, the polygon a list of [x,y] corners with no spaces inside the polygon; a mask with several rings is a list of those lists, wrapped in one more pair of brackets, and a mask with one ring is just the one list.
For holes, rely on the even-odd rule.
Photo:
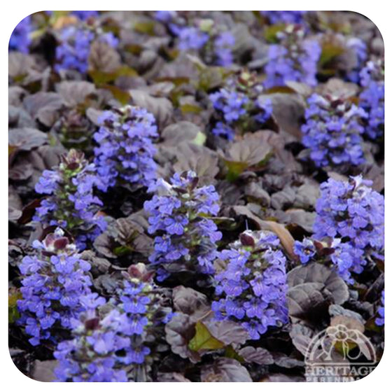
{"label": "white border with rounded inner corners framing the flower photo", "polygon": [[[82,6],[83,4],[83,6]],[[6,183],[8,181],[8,153],[6,153],[6,144],[8,144],[8,138],[6,134],[6,130],[8,129],[8,40],[10,37],[13,28],[18,24],[22,18],[25,18],[26,15],[30,13],[38,12],[39,10],[84,10],[84,9],[96,9],[96,10],[125,10],[127,8],[131,8],[132,10],[183,10],[184,6],[188,5],[184,1],[179,0],[167,0],[163,1],[143,1],[141,3],[135,1],[102,1],[96,0],[92,1],[24,1],[24,0],[15,0],[15,1],[4,1],[1,5],[2,15],[1,15],[1,53],[3,60],[1,61],[1,123],[3,130],[0,132],[1,143],[0,146],[4,149],[4,151],[0,154],[0,173],[2,182]],[[213,10],[228,10],[232,8],[237,8],[237,10],[260,10],[260,8],[272,8],[272,10],[353,10],[363,15],[366,15],[367,18],[370,18],[372,22],[379,28],[381,34],[384,37],[384,43],[386,47],[386,66],[388,71],[386,72],[386,102],[388,104],[389,100],[389,73],[391,72],[389,68],[389,64],[391,63],[391,52],[390,52],[390,45],[391,43],[391,22],[392,17],[391,13],[388,12],[388,7],[385,1],[381,0],[373,0],[373,1],[363,1],[359,2],[358,0],[353,1],[337,1],[337,0],[328,0],[328,1],[288,1],[288,0],[280,0],[279,2],[276,1],[271,3],[269,1],[239,1],[237,3],[228,2],[228,1],[206,1],[206,0],[199,0],[197,3],[192,3],[193,9],[205,10],[205,9],[213,9]],[[240,6],[240,7],[238,7]],[[239,9],[238,9],[239,8]],[[386,124],[389,123],[389,113],[386,111]],[[386,127],[386,146],[391,146],[390,139],[392,130]],[[388,148],[386,148],[386,189],[389,190],[388,180],[390,179],[390,159],[388,154]],[[389,222],[391,218],[389,203],[391,202],[388,197],[389,192],[386,193],[386,239],[390,238],[391,231],[389,230]],[[12,360],[10,359],[8,353],[8,316],[7,316],[7,309],[8,307],[8,300],[6,296],[6,287],[8,288],[8,266],[6,263],[7,258],[7,249],[6,249],[6,222],[8,221],[8,211],[6,211],[7,206],[7,195],[6,195],[6,186],[3,188],[3,192],[1,193],[1,210],[0,210],[0,222],[3,223],[4,234],[1,236],[1,307],[0,314],[1,317],[1,349],[0,349],[0,372],[1,372],[1,384],[3,385],[3,390],[8,390],[8,388],[12,388],[15,391],[21,391],[22,388],[28,388],[29,392],[41,392],[41,391],[49,391],[52,388],[56,388],[58,391],[67,391],[69,388],[72,388],[73,391],[85,391],[86,389],[94,388],[94,391],[104,391],[106,388],[109,387],[107,384],[83,384],[83,383],[74,383],[72,386],[70,384],[52,384],[52,383],[42,383],[39,381],[31,380],[25,375],[23,375],[16,367],[13,365]],[[8,237],[8,236],[7,236]],[[387,241],[388,244],[388,241]],[[386,264],[388,264],[388,255],[390,254],[389,246],[386,247]],[[389,269],[386,267],[386,269]],[[389,274],[390,272],[388,272]],[[7,280],[7,283],[6,283]],[[390,281],[387,278],[387,281]],[[388,283],[389,284],[389,283]],[[7,289],[8,290],[8,289]],[[245,388],[248,388],[252,391],[297,391],[297,390],[304,390],[304,391],[314,391],[316,388],[318,391],[329,391],[330,388],[334,388],[337,391],[370,391],[371,388],[373,390],[384,390],[385,386],[388,385],[392,363],[392,348],[390,346],[390,335],[392,329],[392,296],[389,295],[389,288],[386,290],[386,307],[388,308],[386,311],[386,325],[387,325],[387,332],[386,332],[386,351],[384,352],[384,356],[381,360],[381,363],[377,366],[377,368],[372,372],[369,376],[361,379],[359,381],[355,381],[352,383],[335,383],[330,385],[328,383],[247,383]],[[137,384],[134,383],[132,385],[127,383],[118,383],[116,386],[113,386],[118,391],[130,391],[138,390],[138,391],[153,391],[153,388],[159,388],[160,391],[183,391],[184,388],[195,390],[195,388],[200,388],[197,383],[192,384],[182,384],[182,383],[146,383],[146,384]],[[213,388],[217,388],[212,383],[206,383],[202,386],[203,390],[212,391]],[[233,385],[228,386],[225,384],[221,386],[221,388],[230,388],[234,387]],[[220,387],[218,387],[220,388]]]}

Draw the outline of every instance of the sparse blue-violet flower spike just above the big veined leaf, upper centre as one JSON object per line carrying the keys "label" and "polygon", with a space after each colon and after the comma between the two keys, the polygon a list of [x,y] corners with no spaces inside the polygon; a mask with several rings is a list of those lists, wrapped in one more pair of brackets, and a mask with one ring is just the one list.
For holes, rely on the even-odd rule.
{"label": "sparse blue-violet flower spike just above the big veined leaf, upper centre", "polygon": [[272,115],[272,102],[261,95],[262,90],[254,73],[241,71],[225,87],[209,94],[215,109],[212,133],[232,140],[237,132],[260,129]]}

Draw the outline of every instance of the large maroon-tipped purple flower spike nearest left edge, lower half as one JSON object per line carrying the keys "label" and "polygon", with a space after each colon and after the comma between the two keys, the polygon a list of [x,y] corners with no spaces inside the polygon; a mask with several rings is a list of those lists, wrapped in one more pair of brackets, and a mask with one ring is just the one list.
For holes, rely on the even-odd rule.
{"label": "large maroon-tipped purple flower spike nearest left edge, lower half", "polygon": [[[57,228],[43,241],[34,241],[34,253],[20,264],[22,299],[18,300],[18,321],[36,346],[41,341],[53,344],[71,319],[84,310],[80,297],[90,293],[87,273],[90,264],[80,259],[74,244]],[[66,333],[66,332],[65,332]]]}

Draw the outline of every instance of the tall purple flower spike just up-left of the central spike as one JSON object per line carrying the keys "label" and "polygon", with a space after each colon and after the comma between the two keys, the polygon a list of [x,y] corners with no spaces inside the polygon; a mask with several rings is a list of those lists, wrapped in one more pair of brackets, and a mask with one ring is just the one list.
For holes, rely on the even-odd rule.
{"label": "tall purple flower spike just up-left of the central spike", "polygon": [[99,123],[94,134],[99,144],[94,148],[99,188],[106,192],[118,183],[151,186],[157,168],[153,160],[153,139],[158,137],[154,116],[146,109],[125,106],[104,111]]}

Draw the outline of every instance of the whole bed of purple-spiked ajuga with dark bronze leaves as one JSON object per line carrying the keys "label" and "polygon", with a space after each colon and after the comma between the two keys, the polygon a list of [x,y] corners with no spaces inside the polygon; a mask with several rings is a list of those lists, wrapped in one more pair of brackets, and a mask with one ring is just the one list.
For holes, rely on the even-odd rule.
{"label": "whole bed of purple-spiked ajuga with dark bronze leaves", "polygon": [[[20,372],[301,382],[377,365],[384,45],[370,20],[42,11],[8,61]],[[326,380],[331,360],[346,371]]]}

